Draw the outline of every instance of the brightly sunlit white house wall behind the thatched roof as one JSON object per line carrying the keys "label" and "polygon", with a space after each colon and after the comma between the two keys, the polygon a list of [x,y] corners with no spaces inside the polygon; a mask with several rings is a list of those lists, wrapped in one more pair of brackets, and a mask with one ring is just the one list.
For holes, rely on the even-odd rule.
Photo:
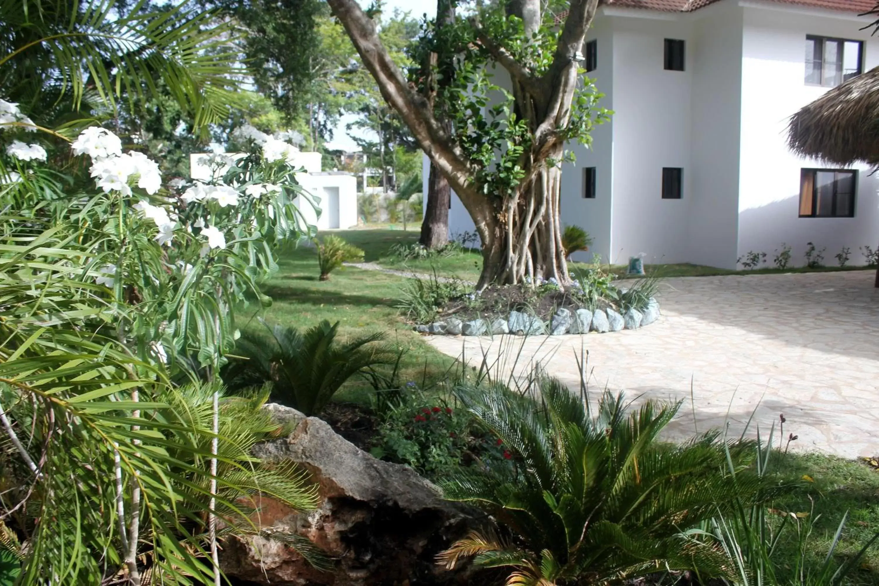
{"label": "brightly sunlit white house wall behind the thatched roof", "polygon": [[879,64],[879,40],[860,31],[869,18],[794,9],[772,4],[745,5],[742,61],[741,192],[737,254],[766,252],[786,242],[795,264],[804,264],[806,242],[825,248],[825,264],[846,246],[852,263],[863,264],[859,246],[879,241],[877,182],[860,165],[854,218],[799,218],[800,170],[837,165],[802,159],[788,150],[789,117],[827,89],[806,85],[805,37],[817,34],[864,40],[864,70]]}

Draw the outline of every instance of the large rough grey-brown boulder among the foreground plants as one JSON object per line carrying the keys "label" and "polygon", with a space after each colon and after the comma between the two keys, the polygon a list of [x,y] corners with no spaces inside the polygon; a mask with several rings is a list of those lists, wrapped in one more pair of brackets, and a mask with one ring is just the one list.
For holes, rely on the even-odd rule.
{"label": "large rough grey-brown boulder among the foreground plants", "polygon": [[374,459],[316,417],[274,404],[266,409],[293,432],[255,446],[254,455],[298,463],[311,474],[323,500],[318,510],[301,512],[264,498],[256,520],[308,537],[334,558],[335,569],[311,568],[277,540],[233,537],[222,546],[226,575],[278,586],[471,583],[469,566],[447,571],[435,556],[476,527],[478,512],[443,500],[410,467]]}

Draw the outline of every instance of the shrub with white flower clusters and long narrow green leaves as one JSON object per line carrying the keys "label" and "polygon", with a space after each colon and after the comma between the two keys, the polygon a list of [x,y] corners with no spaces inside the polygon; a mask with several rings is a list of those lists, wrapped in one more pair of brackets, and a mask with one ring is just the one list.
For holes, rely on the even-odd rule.
{"label": "shrub with white flower clusters and long narrow green leaves", "polygon": [[[0,103],[0,112],[10,124],[23,123],[14,104]],[[275,248],[316,232],[294,205],[302,192],[287,155],[295,147],[279,142],[254,142],[213,183],[178,180],[163,187],[155,161],[123,152],[118,136],[89,127],[70,148],[89,158],[97,189],[70,199],[62,185],[36,181],[49,172],[39,166],[45,148],[16,140],[4,149],[10,170],[0,165],[0,177],[13,188],[0,194],[4,206],[61,222],[60,229],[76,235],[82,277],[111,290],[114,309],[103,319],[116,322],[120,342],[153,362],[216,368],[237,336],[232,307],[242,300],[269,302],[257,281],[276,270]],[[54,194],[47,197],[44,189]],[[4,229],[12,235],[33,226]]]}

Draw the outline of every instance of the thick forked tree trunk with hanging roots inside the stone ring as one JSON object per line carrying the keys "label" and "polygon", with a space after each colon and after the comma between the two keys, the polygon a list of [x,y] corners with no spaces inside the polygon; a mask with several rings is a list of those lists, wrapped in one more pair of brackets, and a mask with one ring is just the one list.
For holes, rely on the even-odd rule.
{"label": "thick forked tree trunk with hanging roots inside the stone ring", "polygon": [[[570,282],[562,249],[560,220],[563,138],[559,129],[570,120],[571,100],[577,89],[578,62],[585,32],[592,23],[598,0],[571,0],[570,11],[558,37],[556,53],[542,76],[477,28],[479,43],[506,69],[512,79],[516,110],[533,134],[531,148],[519,161],[525,178],[506,197],[485,193],[476,184],[476,167],[454,134],[435,115],[432,100],[410,88],[375,32],[372,21],[356,0],[328,0],[345,26],[382,96],[400,112],[418,144],[461,199],[482,240],[483,271],[477,288],[491,283],[517,284],[526,277]],[[523,18],[528,31],[540,23],[539,0],[516,0],[512,11]],[[550,163],[553,162],[553,163]]]}

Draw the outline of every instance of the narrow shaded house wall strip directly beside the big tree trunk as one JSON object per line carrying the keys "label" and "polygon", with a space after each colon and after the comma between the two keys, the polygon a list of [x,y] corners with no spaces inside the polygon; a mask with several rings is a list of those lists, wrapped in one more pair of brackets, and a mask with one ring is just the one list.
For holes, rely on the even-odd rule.
{"label": "narrow shaded house wall strip directly beside the big tree trunk", "polygon": [[[586,74],[604,98],[599,107],[614,109],[614,29],[611,18],[596,16],[586,40],[597,41],[597,68]],[[591,148],[571,143],[568,148],[576,157],[574,163],[562,165],[562,222],[585,229],[592,236],[588,252],[577,252],[574,260],[588,261],[592,254],[601,255],[602,262],[611,258],[613,234],[611,212],[614,193],[614,118],[592,130]],[[585,199],[584,169],[595,167],[595,199]]]}

